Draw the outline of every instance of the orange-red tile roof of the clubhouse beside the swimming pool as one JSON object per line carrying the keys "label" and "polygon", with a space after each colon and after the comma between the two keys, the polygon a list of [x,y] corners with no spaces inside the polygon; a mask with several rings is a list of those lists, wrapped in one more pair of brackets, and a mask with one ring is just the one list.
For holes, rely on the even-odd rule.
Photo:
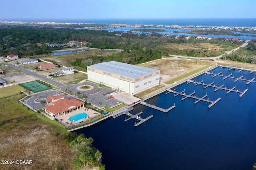
{"label": "orange-red tile roof of the clubhouse beside the swimming pool", "polygon": [[60,99],[56,102],[52,102],[51,106],[46,106],[44,109],[50,111],[53,114],[61,113],[64,111],[68,111],[70,109],[76,108],[80,105],[83,105],[84,102],[81,102],[80,100],[77,100],[75,98],[72,99]]}

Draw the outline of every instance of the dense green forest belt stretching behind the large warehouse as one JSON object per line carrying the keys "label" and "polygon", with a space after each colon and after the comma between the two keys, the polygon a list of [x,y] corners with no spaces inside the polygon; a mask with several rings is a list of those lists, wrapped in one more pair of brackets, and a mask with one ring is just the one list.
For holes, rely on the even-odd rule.
{"label": "dense green forest belt stretching behind the large warehouse", "polygon": [[[151,30],[152,31],[152,30]],[[132,31],[105,31],[90,29],[70,29],[38,26],[1,26],[0,25],[0,55],[6,57],[9,54],[34,56],[50,53],[51,50],[64,47],[48,47],[45,43],[64,44],[69,41],[87,41],[86,46],[98,49],[121,49],[117,55],[90,56],[85,59],[74,59],[73,66],[86,68],[90,64],[105,61],[120,61],[124,63],[145,63],[154,59],[160,59],[168,54],[184,55],[190,57],[216,57],[226,50],[238,47],[242,42],[226,41],[224,38],[196,39],[186,36],[162,35],[151,33],[132,33]],[[36,43],[41,43],[39,46]],[[221,47],[223,50],[209,50],[206,48],[188,48],[180,50],[177,47],[167,47],[166,44],[200,44],[210,43]],[[176,45],[178,46],[178,45]],[[67,47],[66,47],[67,48]],[[254,49],[250,47],[250,49]],[[231,58],[230,58],[231,59]],[[253,59],[252,59],[253,60]]]}

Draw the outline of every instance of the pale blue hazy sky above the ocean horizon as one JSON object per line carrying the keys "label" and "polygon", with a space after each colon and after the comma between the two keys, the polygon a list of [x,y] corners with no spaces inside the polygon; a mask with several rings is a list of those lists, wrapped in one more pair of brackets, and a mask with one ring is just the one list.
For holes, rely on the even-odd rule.
{"label": "pale blue hazy sky above the ocean horizon", "polygon": [[0,0],[0,20],[256,18],[256,0]]}

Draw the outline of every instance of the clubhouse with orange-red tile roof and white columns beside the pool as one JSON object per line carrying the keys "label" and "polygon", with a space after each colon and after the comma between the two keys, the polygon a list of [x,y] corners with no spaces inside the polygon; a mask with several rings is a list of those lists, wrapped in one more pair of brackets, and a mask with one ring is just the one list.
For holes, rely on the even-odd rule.
{"label": "clubhouse with orange-red tile roof and white columns beside the pool", "polygon": [[60,114],[65,115],[66,113],[84,107],[84,102],[75,98],[67,99],[63,95],[50,96],[46,98],[46,102],[48,106],[44,107],[44,110],[53,117],[60,116]]}

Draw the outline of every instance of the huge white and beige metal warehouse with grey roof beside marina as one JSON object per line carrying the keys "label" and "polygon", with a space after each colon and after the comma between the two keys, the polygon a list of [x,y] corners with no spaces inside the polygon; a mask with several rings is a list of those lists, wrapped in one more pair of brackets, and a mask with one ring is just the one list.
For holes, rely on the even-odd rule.
{"label": "huge white and beige metal warehouse with grey roof beside marina", "polygon": [[132,64],[109,61],[87,66],[88,80],[137,94],[159,85],[160,71]]}

